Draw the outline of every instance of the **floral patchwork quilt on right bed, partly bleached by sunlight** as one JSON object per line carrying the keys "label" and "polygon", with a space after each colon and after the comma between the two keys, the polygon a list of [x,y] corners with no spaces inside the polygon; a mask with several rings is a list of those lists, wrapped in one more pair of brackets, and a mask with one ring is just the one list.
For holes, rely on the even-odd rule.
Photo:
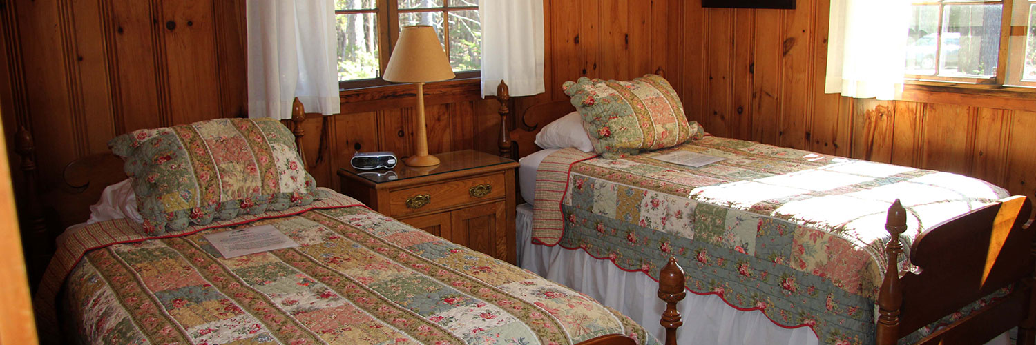
{"label": "floral patchwork quilt on right bed, partly bleached by sunlight", "polygon": [[[677,150],[724,160],[653,159]],[[533,236],[656,279],[674,256],[691,292],[810,326],[823,343],[868,344],[892,202],[908,209],[909,248],[926,228],[1007,196],[956,174],[707,136],[621,160],[552,153],[537,176]]]}

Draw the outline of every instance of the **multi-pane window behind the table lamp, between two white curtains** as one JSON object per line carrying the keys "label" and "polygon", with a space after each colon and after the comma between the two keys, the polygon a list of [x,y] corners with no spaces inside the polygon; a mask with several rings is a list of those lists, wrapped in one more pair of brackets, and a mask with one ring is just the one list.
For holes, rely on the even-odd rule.
{"label": "multi-pane window behind the table lamp, between two white curtains", "polygon": [[458,78],[479,76],[478,0],[336,0],[338,80],[342,88],[387,84],[381,74],[400,28],[430,25]]}

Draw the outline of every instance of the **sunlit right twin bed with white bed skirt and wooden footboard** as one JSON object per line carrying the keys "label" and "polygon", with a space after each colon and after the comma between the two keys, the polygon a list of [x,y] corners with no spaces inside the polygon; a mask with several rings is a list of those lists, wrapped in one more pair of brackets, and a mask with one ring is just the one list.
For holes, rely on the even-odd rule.
{"label": "sunlit right twin bed with white bed skirt and wooden footboard", "polygon": [[[585,103],[534,106],[509,134],[594,136],[550,128],[586,118],[573,106]],[[655,334],[664,305],[639,291],[672,257],[691,292],[682,341],[992,344],[1019,326],[1018,342],[1033,342],[1025,197],[956,174],[712,136],[616,160],[570,142],[540,143],[548,148],[519,161],[519,264]],[[725,160],[654,159],[677,151]]]}

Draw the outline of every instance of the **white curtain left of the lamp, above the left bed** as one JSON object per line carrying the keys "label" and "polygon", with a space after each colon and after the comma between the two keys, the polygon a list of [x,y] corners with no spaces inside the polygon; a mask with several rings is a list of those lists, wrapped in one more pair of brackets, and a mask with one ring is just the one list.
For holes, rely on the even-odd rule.
{"label": "white curtain left of the lamp, above the left bed", "polygon": [[341,113],[334,0],[249,0],[249,117]]}

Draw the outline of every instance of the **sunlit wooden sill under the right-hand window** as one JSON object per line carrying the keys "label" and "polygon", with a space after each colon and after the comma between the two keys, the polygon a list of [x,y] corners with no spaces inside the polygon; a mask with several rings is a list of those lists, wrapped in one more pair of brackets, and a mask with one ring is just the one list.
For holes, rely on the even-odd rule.
{"label": "sunlit wooden sill under the right-hand window", "polygon": [[908,81],[901,100],[1036,112],[1036,88]]}

